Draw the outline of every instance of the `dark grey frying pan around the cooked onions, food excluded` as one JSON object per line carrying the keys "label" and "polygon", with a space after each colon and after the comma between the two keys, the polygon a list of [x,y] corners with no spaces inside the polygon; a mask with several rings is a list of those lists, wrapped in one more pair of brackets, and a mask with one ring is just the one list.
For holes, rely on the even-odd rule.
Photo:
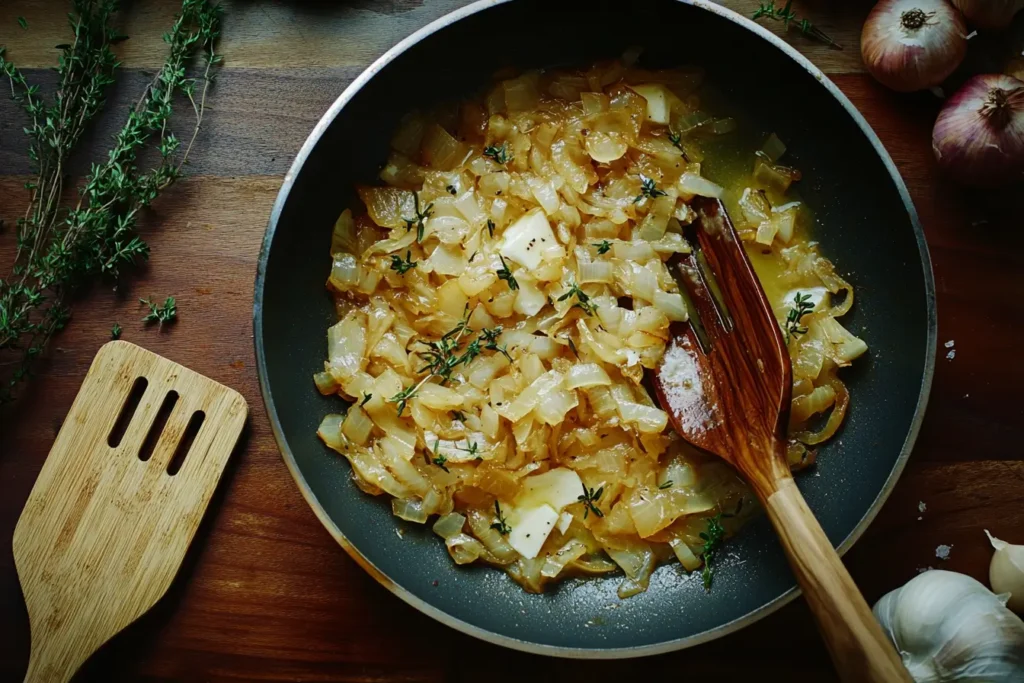
{"label": "dark grey frying pan around the cooked onions, food excluded", "polygon": [[256,276],[267,413],[286,464],[332,536],[439,622],[560,656],[678,649],[778,609],[798,590],[768,523],[757,519],[726,545],[711,592],[673,563],[628,600],[615,596],[618,575],[531,595],[498,569],[457,567],[429,526],[401,521],[385,497],[360,493],[348,464],[315,436],[339,399],[321,396],[311,375],[323,369],[335,322],[324,287],[334,221],[355,183],[375,181],[399,117],[467,95],[504,67],[583,66],[635,45],[645,66],[703,67],[752,115],[754,133],[786,141],[815,210],[815,236],[854,285],[857,303],[843,322],[871,351],[844,371],[852,393],[846,424],[821,450],[814,475],[799,478],[828,538],[847,550],[895,484],[921,425],[936,346],[931,262],[906,187],[863,118],[810,61],[734,12],[701,0],[482,0],[434,22],[355,79],[313,129],[274,204]]}

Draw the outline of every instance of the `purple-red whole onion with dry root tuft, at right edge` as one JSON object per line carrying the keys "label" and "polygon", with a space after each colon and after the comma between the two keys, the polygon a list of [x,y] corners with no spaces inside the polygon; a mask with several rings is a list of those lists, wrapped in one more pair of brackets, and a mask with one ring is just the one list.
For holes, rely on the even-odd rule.
{"label": "purple-red whole onion with dry root tuft, at right edge", "polygon": [[975,76],[946,100],[932,130],[939,166],[970,185],[1006,184],[1024,172],[1024,82]]}

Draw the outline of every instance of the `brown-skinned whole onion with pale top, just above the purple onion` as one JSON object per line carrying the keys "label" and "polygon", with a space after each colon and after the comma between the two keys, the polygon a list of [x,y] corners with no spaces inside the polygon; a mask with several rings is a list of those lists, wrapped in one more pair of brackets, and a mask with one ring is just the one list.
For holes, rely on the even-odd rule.
{"label": "brown-skinned whole onion with pale top, just above the purple onion", "polygon": [[898,92],[944,81],[967,54],[967,25],[946,0],[882,0],[860,34],[867,71]]}

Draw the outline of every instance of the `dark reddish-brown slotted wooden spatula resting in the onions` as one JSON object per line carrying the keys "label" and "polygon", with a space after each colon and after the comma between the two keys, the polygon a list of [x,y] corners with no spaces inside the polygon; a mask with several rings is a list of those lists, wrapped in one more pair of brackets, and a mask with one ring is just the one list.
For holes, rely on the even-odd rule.
{"label": "dark reddish-brown slotted wooden spatula resting in the onions", "polygon": [[721,202],[694,206],[698,249],[678,266],[697,321],[655,372],[662,404],[683,438],[730,463],[761,500],[843,680],[910,681],[790,473],[793,376],[764,290]]}

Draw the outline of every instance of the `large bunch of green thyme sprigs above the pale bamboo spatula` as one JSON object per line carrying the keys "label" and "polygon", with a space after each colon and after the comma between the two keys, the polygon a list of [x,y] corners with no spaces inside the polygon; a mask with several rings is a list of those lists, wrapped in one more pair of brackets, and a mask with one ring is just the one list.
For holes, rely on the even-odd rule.
{"label": "large bunch of green thyme sprigs above the pale bamboo spatula", "polygon": [[[139,213],[180,176],[202,124],[213,69],[220,61],[215,44],[221,10],[208,0],[183,0],[164,35],[164,66],[129,112],[105,161],[92,165],[78,202],[61,208],[68,159],[114,82],[118,61],[111,45],[123,39],[113,28],[117,9],[117,0],[74,0],[73,39],[58,46],[52,101],[0,49],[0,75],[29,118],[25,130],[36,176],[26,183],[30,201],[17,221],[14,265],[0,279],[0,403],[13,399],[33,361],[67,325],[72,293],[100,279],[117,283],[123,269],[148,258],[148,245],[136,231]],[[188,77],[186,67],[201,51],[205,68]],[[188,100],[196,117],[183,150],[168,127],[176,94]],[[143,170],[137,156],[146,145],[160,159]]]}

